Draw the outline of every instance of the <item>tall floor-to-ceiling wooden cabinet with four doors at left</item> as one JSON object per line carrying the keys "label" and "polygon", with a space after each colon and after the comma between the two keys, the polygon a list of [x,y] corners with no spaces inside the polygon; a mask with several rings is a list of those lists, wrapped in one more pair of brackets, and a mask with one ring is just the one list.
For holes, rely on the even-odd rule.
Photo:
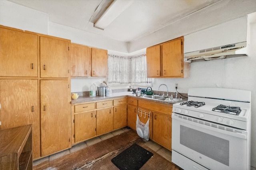
{"label": "tall floor-to-ceiling wooden cabinet with four doors at left", "polygon": [[0,25],[0,129],[32,124],[33,160],[71,147],[69,45]]}

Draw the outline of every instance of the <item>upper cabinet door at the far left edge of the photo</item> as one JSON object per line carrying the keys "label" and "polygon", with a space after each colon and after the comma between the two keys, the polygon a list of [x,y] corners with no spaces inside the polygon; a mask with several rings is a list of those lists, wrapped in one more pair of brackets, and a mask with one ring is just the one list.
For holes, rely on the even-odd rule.
{"label": "upper cabinet door at the far left edge of the photo", "polygon": [[38,36],[0,28],[0,76],[37,77]]}

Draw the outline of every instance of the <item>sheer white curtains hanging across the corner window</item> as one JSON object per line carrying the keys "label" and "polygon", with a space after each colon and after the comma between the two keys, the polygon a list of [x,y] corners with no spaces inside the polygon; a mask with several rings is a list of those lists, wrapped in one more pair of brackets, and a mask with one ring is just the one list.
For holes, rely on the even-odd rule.
{"label": "sheer white curtains hanging across the corner window", "polygon": [[108,83],[151,83],[152,79],[147,78],[146,68],[146,55],[136,57],[108,55]]}

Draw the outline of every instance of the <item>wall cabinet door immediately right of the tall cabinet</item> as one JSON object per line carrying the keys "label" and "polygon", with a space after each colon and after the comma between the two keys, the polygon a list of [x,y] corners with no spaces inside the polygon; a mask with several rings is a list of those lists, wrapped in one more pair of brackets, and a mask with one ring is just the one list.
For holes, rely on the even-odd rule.
{"label": "wall cabinet door immediately right of the tall cabinet", "polygon": [[71,76],[91,76],[92,48],[71,44]]}

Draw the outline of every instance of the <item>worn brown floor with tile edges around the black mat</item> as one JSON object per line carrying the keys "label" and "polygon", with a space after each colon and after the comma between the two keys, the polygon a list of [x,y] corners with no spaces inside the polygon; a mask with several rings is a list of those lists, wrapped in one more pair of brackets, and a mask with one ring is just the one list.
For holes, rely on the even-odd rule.
{"label": "worn brown floor with tile edges around the black mat", "polygon": [[[151,152],[153,152],[154,153],[153,157],[159,157],[157,159],[158,162],[153,161],[151,163],[153,165],[148,163],[150,161],[146,163],[148,165],[144,164],[145,167],[148,166],[148,168],[146,169],[151,169],[150,167],[155,166],[154,164],[156,165],[159,164],[159,160],[162,160],[162,162],[165,162],[163,163],[165,166],[164,169],[172,169],[172,170],[179,169],[177,166],[171,163],[172,154],[170,150],[165,149],[164,147],[158,145],[157,143],[151,140],[145,141],[144,139],[141,139],[140,137],[138,137],[135,131],[133,131],[132,129],[127,129],[127,127],[119,129],[117,131],[113,131],[111,133],[101,135],[99,137],[95,137],[93,139],[89,139],[85,142],[74,145],[72,146],[72,148],[64,150],[62,152],[58,152],[56,154],[46,156],[39,160],[35,160],[33,162],[33,169],[34,170],[57,170],[57,169],[68,170],[68,169],[88,169],[88,168],[89,169],[98,169],[98,168],[113,169],[114,164],[112,165],[112,162],[111,162],[111,159],[114,157],[113,154],[117,154],[117,152],[119,153],[121,152],[121,150],[126,149],[128,145],[131,145],[131,143],[138,143],[145,149],[148,149]],[[104,148],[102,147],[103,145],[108,145],[109,147]],[[103,153],[102,150],[97,150],[97,148],[100,148],[100,147],[102,147],[102,150],[106,149],[106,151]],[[110,149],[109,151],[107,151],[109,148],[112,148],[112,147],[113,147],[112,150]],[[99,153],[99,155],[96,156],[98,152],[102,152],[102,153]],[[92,153],[94,153],[95,156],[89,155]],[[89,157],[92,156],[93,158],[89,158],[89,157],[87,158],[86,156],[84,156],[83,160],[78,160],[77,159],[79,157],[78,155],[82,155],[82,154],[83,155],[87,154],[87,156],[89,155]],[[110,156],[111,159],[108,158],[109,161],[105,162],[104,165],[102,165],[102,163],[97,163],[97,164],[95,163],[95,162],[102,161],[107,156]],[[70,161],[68,162],[67,160],[70,160]],[[75,162],[75,160],[78,160],[78,161]],[[61,164],[65,161],[67,162],[66,165],[61,166]],[[89,163],[86,161],[88,161]],[[90,164],[90,166],[88,164]],[[162,164],[161,161],[160,161],[160,164]],[[108,167],[102,168],[104,166],[108,166]],[[159,169],[159,166],[156,166],[156,168]]]}

